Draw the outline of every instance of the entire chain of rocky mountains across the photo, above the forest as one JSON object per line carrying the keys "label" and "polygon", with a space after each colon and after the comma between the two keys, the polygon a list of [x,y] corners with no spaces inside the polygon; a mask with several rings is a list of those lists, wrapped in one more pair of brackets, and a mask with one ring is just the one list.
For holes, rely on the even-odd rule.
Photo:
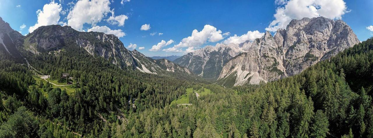
{"label": "entire chain of rocky mountains across the photo, above the forest", "polygon": [[115,35],[101,32],[79,32],[70,26],[49,25],[23,36],[1,18],[0,27],[0,50],[20,61],[22,55],[58,56],[74,46],[123,69],[161,75],[195,74],[228,87],[293,76],[360,42],[342,20],[315,17],[292,20],[274,36],[266,32],[254,41],[218,43],[179,58],[150,58],[137,50],[129,51]]}

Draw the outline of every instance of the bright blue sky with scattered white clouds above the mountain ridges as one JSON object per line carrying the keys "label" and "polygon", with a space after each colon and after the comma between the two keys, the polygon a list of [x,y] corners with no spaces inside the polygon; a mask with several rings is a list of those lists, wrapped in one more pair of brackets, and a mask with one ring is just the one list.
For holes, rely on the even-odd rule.
{"label": "bright blue sky with scattered white clouds above the mountain ridges", "polygon": [[[314,17],[315,13],[341,18],[360,41],[373,36],[372,0],[305,1],[311,4],[299,0],[0,0],[0,17],[23,35],[31,26],[64,23],[79,31],[113,33],[126,48],[147,56],[184,55],[206,45],[253,40],[265,31],[284,28],[287,21],[276,17],[281,12],[286,19]],[[300,11],[294,8],[302,6]],[[277,24],[270,26],[271,22]],[[150,29],[141,30],[145,24]]]}

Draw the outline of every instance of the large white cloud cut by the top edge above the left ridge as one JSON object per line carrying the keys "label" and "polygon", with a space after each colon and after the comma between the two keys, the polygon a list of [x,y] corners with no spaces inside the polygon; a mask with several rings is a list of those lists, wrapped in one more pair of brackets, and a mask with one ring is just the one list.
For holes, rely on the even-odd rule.
{"label": "large white cloud cut by the top edge above the left ridge", "polygon": [[109,5],[109,0],[79,0],[67,16],[68,25],[78,31],[83,30],[84,23],[95,26],[110,12]]}

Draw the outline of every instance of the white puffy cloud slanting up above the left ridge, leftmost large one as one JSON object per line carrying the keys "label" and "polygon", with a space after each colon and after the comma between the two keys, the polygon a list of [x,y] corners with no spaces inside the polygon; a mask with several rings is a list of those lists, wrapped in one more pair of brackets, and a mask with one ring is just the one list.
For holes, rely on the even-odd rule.
{"label": "white puffy cloud slanting up above the left ridge, leftmost large one", "polygon": [[28,32],[33,32],[40,26],[56,25],[60,20],[60,12],[62,10],[61,4],[51,1],[45,4],[43,10],[37,10],[38,22],[34,26],[30,26]]}

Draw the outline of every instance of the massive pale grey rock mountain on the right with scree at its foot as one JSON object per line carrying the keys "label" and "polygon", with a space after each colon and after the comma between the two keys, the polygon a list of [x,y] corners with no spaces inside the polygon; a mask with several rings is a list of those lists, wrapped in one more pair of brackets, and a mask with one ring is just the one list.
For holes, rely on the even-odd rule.
{"label": "massive pale grey rock mountain on the right with scree at its foot", "polygon": [[292,20],[286,30],[279,29],[275,36],[266,32],[254,42],[240,44],[246,52],[224,65],[218,82],[235,76],[234,86],[237,86],[292,76],[359,42],[342,20],[325,17]]}

